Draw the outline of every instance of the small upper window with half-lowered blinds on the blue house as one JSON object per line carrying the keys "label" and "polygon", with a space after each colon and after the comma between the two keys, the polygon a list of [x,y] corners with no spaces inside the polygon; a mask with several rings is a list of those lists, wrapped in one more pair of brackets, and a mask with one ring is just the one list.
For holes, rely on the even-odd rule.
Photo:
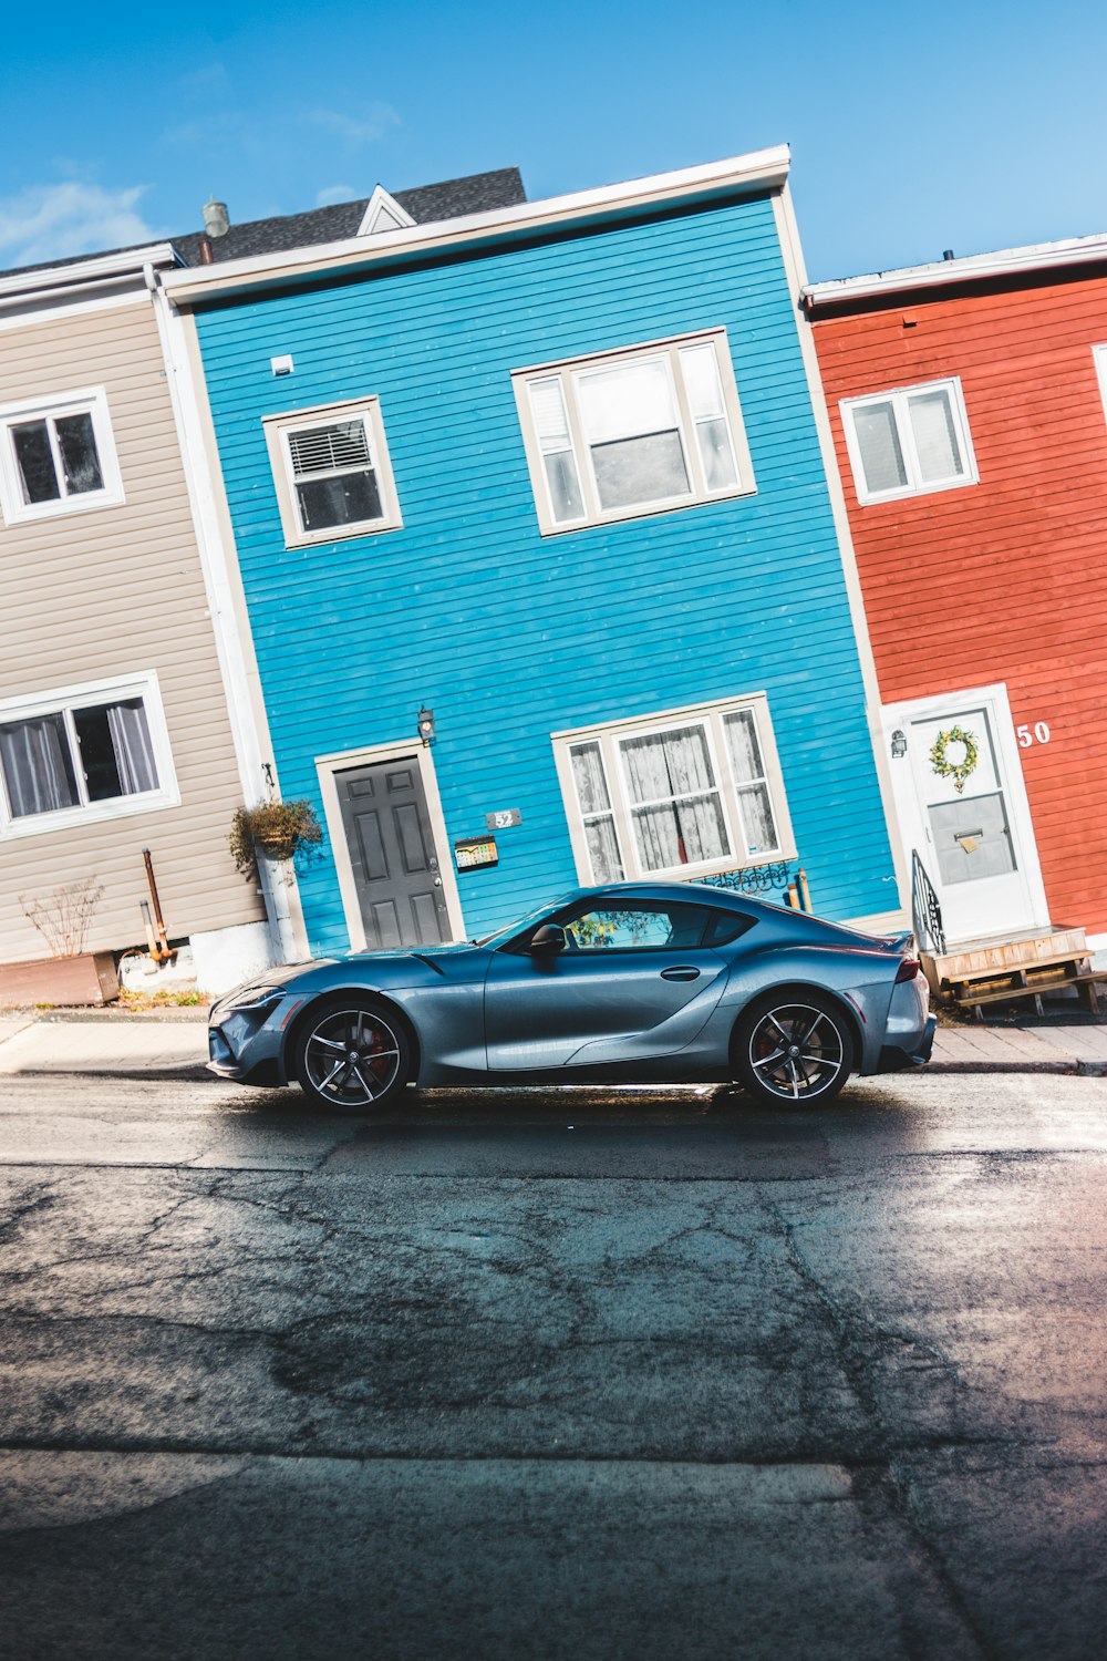
{"label": "small upper window with half-lowered blinds on the blue house", "polygon": [[289,546],[403,523],[378,399],[267,415],[266,439]]}

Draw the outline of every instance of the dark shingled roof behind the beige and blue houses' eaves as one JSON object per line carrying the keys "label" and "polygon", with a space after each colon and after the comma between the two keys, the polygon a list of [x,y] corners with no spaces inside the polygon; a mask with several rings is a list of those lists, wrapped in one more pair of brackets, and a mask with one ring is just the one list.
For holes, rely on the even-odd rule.
{"label": "dark shingled roof behind the beige and blue houses' eaves", "polygon": [[[417,224],[432,224],[438,219],[461,219],[471,213],[491,213],[496,208],[513,208],[526,201],[523,178],[518,168],[500,168],[495,173],[470,173],[460,179],[445,179],[441,184],[420,184],[410,191],[392,191],[395,201]],[[211,238],[212,262],[222,264],[227,259],[249,259],[256,254],[280,254],[294,247],[310,247],[314,243],[342,243],[357,236],[368,196],[360,196],[352,203],[337,203],[332,208],[314,208],[309,213],[277,214],[272,219],[249,219],[246,224],[232,224],[226,236]],[[148,247],[153,241],[173,243],[186,266],[199,266],[199,247],[202,231],[186,231],[184,236],[149,238],[136,243],[134,247]],[[96,254],[124,254],[124,247],[105,247]],[[55,266],[75,266],[81,259],[93,259],[95,254],[73,254],[68,259],[46,259],[35,266],[17,266],[3,276],[17,276],[20,271],[51,271]]]}

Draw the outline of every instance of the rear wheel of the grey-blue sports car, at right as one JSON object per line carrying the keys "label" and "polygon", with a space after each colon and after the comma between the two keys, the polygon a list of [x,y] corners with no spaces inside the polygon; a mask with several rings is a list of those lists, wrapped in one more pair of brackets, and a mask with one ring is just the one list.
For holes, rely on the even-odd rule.
{"label": "rear wheel of the grey-blue sports car, at right", "polygon": [[734,1070],[744,1090],[772,1108],[822,1108],[855,1065],[841,1008],[818,992],[757,998],[734,1030]]}

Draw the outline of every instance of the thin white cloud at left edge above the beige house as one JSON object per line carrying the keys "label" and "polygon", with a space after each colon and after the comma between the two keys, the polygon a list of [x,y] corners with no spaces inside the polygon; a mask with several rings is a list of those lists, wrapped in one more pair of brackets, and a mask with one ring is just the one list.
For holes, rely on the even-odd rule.
{"label": "thin white cloud at left edge above the beige house", "polygon": [[154,241],[154,231],[136,213],[146,184],[108,191],[70,179],[32,184],[0,198],[0,261],[37,266],[71,254],[95,254],[131,243]]}

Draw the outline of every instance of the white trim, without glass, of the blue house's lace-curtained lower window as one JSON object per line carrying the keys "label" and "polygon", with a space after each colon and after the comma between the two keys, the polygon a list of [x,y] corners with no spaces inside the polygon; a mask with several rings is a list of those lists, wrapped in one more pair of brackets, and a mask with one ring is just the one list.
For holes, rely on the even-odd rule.
{"label": "white trim, without glass, of the blue house's lace-curtained lower window", "polygon": [[[747,854],[744,839],[737,834],[742,826],[739,806],[739,791],[742,789],[742,784],[734,777],[724,731],[724,716],[737,714],[740,709],[750,709],[753,713],[757,742],[760,746],[762,764],[765,767],[765,784],[768,786],[768,797],[777,821],[778,847],[760,849],[757,854]],[[722,859],[699,860],[689,865],[667,865],[659,870],[646,870],[637,857],[637,837],[634,835],[634,824],[631,819],[631,801],[619,762],[619,739],[646,737],[651,733],[664,733],[674,726],[692,724],[702,724],[707,731],[707,749],[715,774],[715,789],[719,791],[727,839],[730,842],[730,854]],[[649,882],[654,879],[667,880],[672,877],[692,882],[695,877],[715,875],[724,870],[750,870],[755,865],[797,857],[792,819],[788,816],[788,801],[783,787],[783,774],[780,771],[780,757],[777,754],[777,739],[768,714],[767,693],[745,693],[740,698],[727,698],[724,701],[684,704],[679,709],[662,709],[654,714],[627,716],[621,721],[601,721],[586,728],[573,728],[566,733],[553,733],[551,742],[554,749],[554,764],[558,767],[558,782],[561,784],[561,797],[569,826],[573,859],[576,862],[578,877],[586,887],[591,887],[596,882],[596,877],[593,875],[593,864],[588,852],[584,814],[581,812],[581,804],[576,794],[576,779],[573,777],[571,759],[571,751],[578,744],[586,742],[599,744],[604,776],[607,781],[607,794],[611,797],[611,814],[614,817],[616,837],[622,855],[622,872],[627,882]]]}

